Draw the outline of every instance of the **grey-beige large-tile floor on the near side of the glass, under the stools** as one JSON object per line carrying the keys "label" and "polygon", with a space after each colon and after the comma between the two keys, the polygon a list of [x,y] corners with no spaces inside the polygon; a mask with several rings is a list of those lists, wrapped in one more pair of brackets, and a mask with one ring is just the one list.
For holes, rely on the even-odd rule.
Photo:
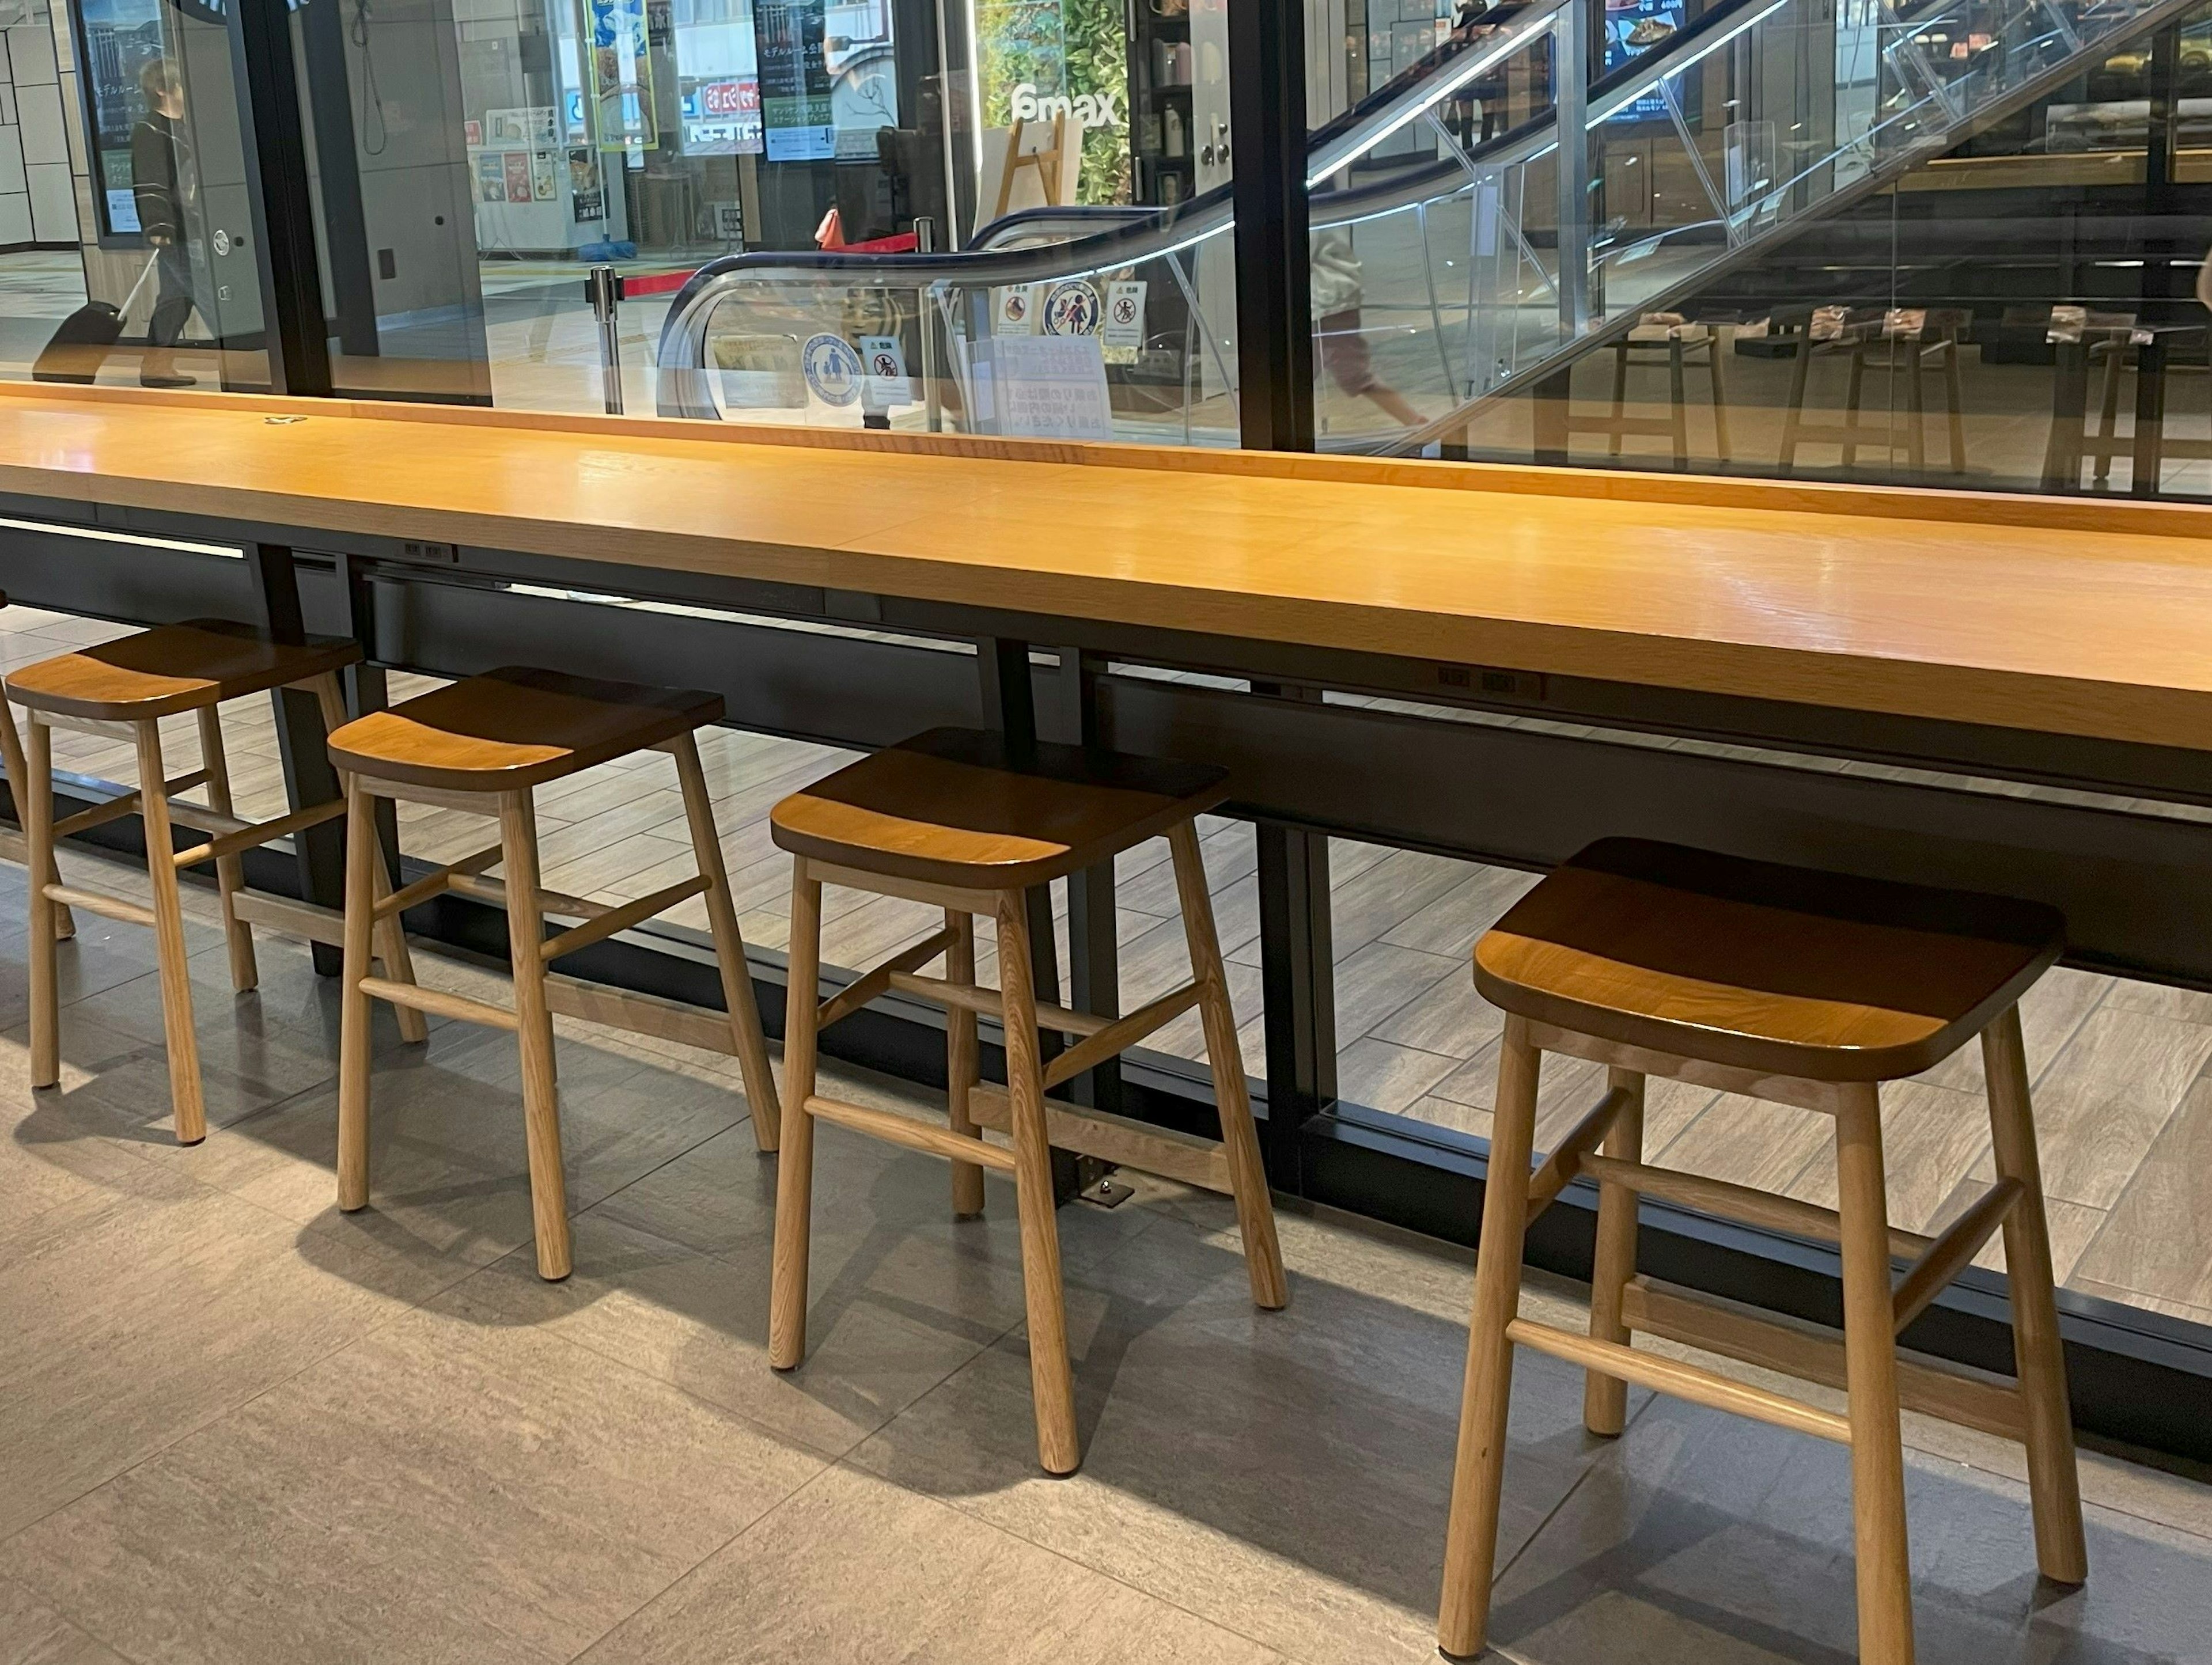
{"label": "grey-beige large-tile floor on the near side of the glass, under the stools", "polygon": [[[995,1179],[953,1225],[938,1163],[823,1128],[814,1353],[774,1375],[774,1163],[726,1059],[562,1026],[577,1269],[544,1285],[511,1041],[383,1037],[343,1216],[334,991],[268,942],[232,997],[208,900],[215,1128],[179,1150],[133,926],[84,920],[62,1090],[27,1088],[0,869],[0,1663],[1433,1658],[1462,1254],[1285,1214],[1256,1313],[1217,1198],[1064,1210],[1086,1464],[1042,1479]],[[1517,1389],[1506,1658],[1849,1658],[1840,1448],[1644,1395],[1601,1444],[1566,1366]],[[2015,1453],[1911,1444],[1922,1658],[2212,1661],[2212,1488],[2086,1457],[2095,1572],[2059,1592]]]}

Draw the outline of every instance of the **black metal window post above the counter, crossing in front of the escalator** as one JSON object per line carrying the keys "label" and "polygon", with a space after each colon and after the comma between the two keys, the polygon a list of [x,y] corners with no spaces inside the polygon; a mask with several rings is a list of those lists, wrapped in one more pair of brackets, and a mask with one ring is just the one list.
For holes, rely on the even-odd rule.
{"label": "black metal window post above the counter, crossing in front of the escalator", "polygon": [[1228,0],[1228,7],[1239,431],[1252,451],[1312,451],[1305,13],[1298,0]]}

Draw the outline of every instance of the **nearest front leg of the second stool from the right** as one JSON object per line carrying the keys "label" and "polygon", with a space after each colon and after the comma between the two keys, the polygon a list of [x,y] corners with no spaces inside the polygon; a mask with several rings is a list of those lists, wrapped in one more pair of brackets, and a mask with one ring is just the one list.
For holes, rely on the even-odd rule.
{"label": "nearest front leg of the second stool from the right", "polygon": [[1022,1296],[1029,1307],[1029,1391],[1037,1411],[1037,1462],[1073,1475],[1075,1373],[1068,1369],[1068,1311],[1060,1282],[1060,1225],[1053,1218],[1053,1150],[1044,1137],[1044,1066],[1037,1055],[1037,995],[1029,966],[1029,900],[998,900],[998,986],[1006,1026],[1006,1099],[1013,1123],[1013,1192],[1022,1210]]}

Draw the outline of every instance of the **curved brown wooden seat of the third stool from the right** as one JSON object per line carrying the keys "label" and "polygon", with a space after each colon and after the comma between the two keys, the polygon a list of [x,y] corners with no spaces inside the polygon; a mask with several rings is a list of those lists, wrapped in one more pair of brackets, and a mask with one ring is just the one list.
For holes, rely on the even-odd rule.
{"label": "curved brown wooden seat of the third stool from the right", "polygon": [[690,734],[721,694],[507,666],[369,712],[330,736],[341,769],[442,792],[520,792]]}

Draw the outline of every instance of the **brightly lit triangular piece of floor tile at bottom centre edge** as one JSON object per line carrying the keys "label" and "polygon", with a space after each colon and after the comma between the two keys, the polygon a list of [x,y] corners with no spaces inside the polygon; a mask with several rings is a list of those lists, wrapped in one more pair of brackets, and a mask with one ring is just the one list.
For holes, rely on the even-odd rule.
{"label": "brightly lit triangular piece of floor tile at bottom centre edge", "polygon": [[586,1665],[1279,1658],[960,1510],[845,1468],[816,1479],[584,1654]]}

